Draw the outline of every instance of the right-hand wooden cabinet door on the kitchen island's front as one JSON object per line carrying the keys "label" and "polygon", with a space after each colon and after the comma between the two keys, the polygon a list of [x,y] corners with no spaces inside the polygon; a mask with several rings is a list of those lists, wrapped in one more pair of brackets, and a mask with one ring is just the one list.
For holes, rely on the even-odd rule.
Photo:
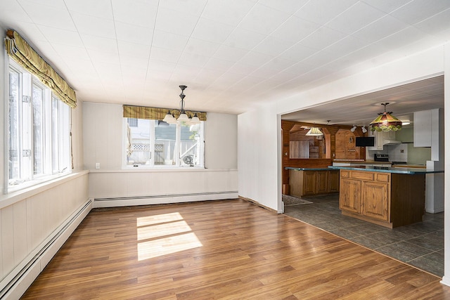
{"label": "right-hand wooden cabinet door on the kitchen island's front", "polygon": [[389,183],[364,181],[362,186],[362,214],[371,218],[388,220],[389,217]]}

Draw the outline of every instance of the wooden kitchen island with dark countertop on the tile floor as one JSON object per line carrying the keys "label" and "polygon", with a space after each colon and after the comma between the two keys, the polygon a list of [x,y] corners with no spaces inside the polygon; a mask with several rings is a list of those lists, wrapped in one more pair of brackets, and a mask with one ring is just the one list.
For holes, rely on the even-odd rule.
{"label": "wooden kitchen island with dark countertop on the tile floor", "polygon": [[423,221],[425,174],[444,171],[376,166],[330,166],[340,170],[342,214],[394,228]]}

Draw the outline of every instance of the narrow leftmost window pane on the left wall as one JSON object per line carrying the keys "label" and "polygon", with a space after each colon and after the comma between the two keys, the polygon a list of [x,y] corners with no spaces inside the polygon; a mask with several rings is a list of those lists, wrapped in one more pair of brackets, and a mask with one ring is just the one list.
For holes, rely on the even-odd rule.
{"label": "narrow leftmost window pane on the left wall", "polygon": [[20,96],[20,76],[18,72],[10,70],[9,72],[9,180],[13,184],[20,178],[20,159],[19,159],[19,96]]}

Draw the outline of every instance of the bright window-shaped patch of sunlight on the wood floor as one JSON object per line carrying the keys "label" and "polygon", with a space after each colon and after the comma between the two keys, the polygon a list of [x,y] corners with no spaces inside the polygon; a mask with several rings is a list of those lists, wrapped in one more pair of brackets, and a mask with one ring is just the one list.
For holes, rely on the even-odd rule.
{"label": "bright window-shaped patch of sunlight on the wood floor", "polygon": [[139,261],[203,246],[178,212],[141,217],[136,226]]}

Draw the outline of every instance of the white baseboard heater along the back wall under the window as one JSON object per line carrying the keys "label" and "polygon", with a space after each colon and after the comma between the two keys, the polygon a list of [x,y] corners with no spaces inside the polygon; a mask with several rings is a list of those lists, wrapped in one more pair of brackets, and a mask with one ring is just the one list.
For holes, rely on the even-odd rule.
{"label": "white baseboard heater along the back wall under the window", "polygon": [[98,207],[124,207],[149,204],[169,204],[181,202],[195,202],[205,200],[225,200],[238,198],[238,191],[224,191],[211,193],[188,193],[188,194],[166,194],[145,195],[134,197],[105,197],[94,198],[94,208]]}

